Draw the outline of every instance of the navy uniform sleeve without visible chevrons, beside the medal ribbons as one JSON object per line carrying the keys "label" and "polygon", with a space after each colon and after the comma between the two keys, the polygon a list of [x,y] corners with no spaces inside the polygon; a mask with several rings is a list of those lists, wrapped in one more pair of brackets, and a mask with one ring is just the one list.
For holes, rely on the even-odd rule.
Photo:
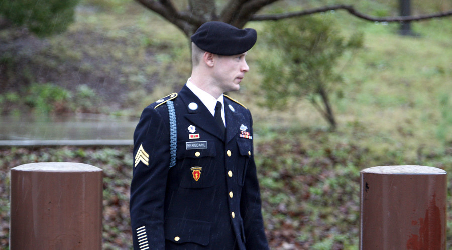
{"label": "navy uniform sleeve without visible chevrons, beside the medal ribbons", "polygon": [[[251,130],[251,133],[253,133],[253,130]],[[245,245],[246,249],[269,249],[262,219],[261,195],[256,164],[254,162],[254,148],[252,152],[250,164],[245,175],[241,198],[241,214],[243,216],[246,239]]]}

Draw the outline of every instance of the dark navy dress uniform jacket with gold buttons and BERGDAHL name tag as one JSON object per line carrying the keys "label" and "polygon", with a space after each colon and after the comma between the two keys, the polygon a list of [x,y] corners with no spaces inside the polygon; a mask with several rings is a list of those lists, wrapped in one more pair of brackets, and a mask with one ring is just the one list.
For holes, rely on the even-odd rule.
{"label": "dark navy dress uniform jacket with gold buttons and BERGDAHL name tag", "polygon": [[[250,111],[225,97],[222,138],[193,92],[184,86],[174,96],[146,107],[135,130],[134,249],[268,249]],[[171,168],[167,99],[177,122],[177,161]]]}

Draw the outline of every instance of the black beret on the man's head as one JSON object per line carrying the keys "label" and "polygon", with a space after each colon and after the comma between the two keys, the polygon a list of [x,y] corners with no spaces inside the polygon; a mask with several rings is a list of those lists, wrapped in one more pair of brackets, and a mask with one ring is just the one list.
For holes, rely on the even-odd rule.
{"label": "black beret on the man's head", "polygon": [[238,29],[223,22],[202,24],[191,36],[191,41],[202,50],[217,55],[238,55],[253,47],[256,43],[256,30]]}

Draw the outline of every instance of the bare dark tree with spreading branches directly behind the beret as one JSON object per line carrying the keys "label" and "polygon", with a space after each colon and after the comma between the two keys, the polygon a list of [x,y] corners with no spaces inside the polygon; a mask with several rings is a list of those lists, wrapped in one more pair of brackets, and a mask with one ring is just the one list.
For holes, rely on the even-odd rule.
{"label": "bare dark tree with spreading branches directly behind the beret", "polygon": [[215,0],[188,0],[188,6],[177,6],[173,0],[136,1],[176,25],[187,37],[190,37],[200,25],[207,21],[222,21],[242,28],[249,21],[280,20],[341,9],[347,10],[350,14],[358,18],[375,22],[419,21],[452,15],[452,10],[449,10],[418,16],[372,17],[358,12],[352,5],[343,4],[322,6],[295,12],[282,12],[279,14],[257,14],[264,7],[280,0],[229,0],[221,6],[222,9],[220,10],[217,8],[218,1]]}

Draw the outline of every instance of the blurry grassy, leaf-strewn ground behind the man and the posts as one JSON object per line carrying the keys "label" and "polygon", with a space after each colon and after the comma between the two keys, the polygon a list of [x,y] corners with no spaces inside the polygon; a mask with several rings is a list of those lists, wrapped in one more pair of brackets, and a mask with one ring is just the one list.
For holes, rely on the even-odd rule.
{"label": "blurry grassy, leaf-strewn ground behind the man and the posts", "polygon": [[[372,1],[362,8],[370,10],[374,5],[379,4]],[[50,77],[41,83],[66,88],[78,98],[71,99],[71,105],[91,100],[88,111],[96,107],[95,112],[135,117],[149,103],[178,91],[191,67],[182,32],[136,4],[104,3],[102,8],[85,4],[68,32],[47,38],[31,54],[5,54],[1,60],[8,64],[9,79],[22,81],[19,86],[39,82],[36,75],[42,75],[35,74],[35,68],[43,65]],[[251,71],[241,90],[230,93],[253,113],[263,215],[272,249],[357,249],[359,180],[364,168],[426,165],[452,171],[450,18],[413,23],[420,36],[401,37],[397,24],[369,23],[341,11],[323,15],[334,15],[345,34],[354,29],[365,33],[364,48],[345,55],[337,67],[344,75],[331,95],[337,131],[328,131],[307,100],[296,100],[284,111],[259,105],[257,58],[265,57],[259,38],[247,56]],[[247,26],[258,34],[266,32],[259,22]],[[0,38],[12,33],[2,34]],[[28,62],[21,68],[26,69],[21,71],[23,78],[22,73],[15,74],[19,59]],[[93,92],[99,98],[92,99]],[[12,107],[26,93],[12,88],[0,94],[0,103]],[[101,108],[106,104],[108,109]],[[15,107],[16,112],[22,110]],[[8,170],[40,161],[76,161],[102,168],[103,247],[130,248],[129,147],[0,151],[0,213],[5,218],[0,222],[4,235],[0,247],[8,246]],[[449,181],[449,201],[451,185]],[[451,208],[449,202],[449,213]],[[452,216],[447,218],[451,221]],[[451,226],[447,223],[448,247]]]}

